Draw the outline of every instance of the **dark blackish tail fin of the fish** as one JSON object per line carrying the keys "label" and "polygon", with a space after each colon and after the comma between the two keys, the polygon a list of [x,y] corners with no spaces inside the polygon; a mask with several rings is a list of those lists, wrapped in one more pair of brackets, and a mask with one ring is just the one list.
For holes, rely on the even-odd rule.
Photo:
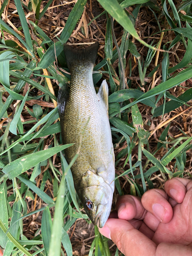
{"label": "dark blackish tail fin of the fish", "polygon": [[75,65],[77,61],[90,61],[93,65],[97,57],[97,51],[99,43],[96,42],[94,45],[84,49],[74,49],[72,46],[65,45],[64,52],[66,55],[68,68],[71,70],[71,66]]}

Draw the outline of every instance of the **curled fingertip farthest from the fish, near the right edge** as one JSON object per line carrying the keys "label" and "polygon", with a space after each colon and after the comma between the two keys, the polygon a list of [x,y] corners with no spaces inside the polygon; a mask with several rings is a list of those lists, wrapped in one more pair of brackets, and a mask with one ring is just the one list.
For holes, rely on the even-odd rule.
{"label": "curled fingertip farthest from the fish, near the right edge", "polygon": [[177,203],[182,203],[186,194],[186,186],[189,180],[182,178],[173,178],[165,182],[164,190],[167,195]]}

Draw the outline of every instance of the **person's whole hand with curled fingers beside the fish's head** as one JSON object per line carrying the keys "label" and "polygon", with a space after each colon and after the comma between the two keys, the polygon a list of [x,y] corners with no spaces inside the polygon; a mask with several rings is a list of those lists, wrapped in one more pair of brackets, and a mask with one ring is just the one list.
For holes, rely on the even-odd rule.
{"label": "person's whole hand with curled fingers beside the fish's head", "polygon": [[142,198],[121,196],[99,231],[125,255],[192,255],[192,181],[173,178]]}

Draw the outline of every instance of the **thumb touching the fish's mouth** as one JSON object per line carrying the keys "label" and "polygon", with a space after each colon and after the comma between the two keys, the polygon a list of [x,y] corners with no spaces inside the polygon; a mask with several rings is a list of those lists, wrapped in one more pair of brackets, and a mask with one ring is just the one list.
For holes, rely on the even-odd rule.
{"label": "thumb touching the fish's mouth", "polygon": [[156,253],[157,245],[125,220],[110,218],[99,232],[111,239],[125,256],[153,256]]}

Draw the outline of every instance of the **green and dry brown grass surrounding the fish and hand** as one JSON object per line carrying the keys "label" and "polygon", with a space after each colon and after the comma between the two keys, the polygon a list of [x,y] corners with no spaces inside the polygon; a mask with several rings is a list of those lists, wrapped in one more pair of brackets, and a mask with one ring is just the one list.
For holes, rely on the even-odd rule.
{"label": "green and dry brown grass surrounding the fish and hand", "polygon": [[93,236],[74,189],[73,162],[68,165],[62,152],[70,146],[61,145],[57,111],[58,88],[70,81],[63,54],[67,41],[100,42],[93,78],[96,91],[102,79],[109,82],[113,208],[118,195],[141,197],[167,179],[191,177],[191,1],[74,2],[0,5],[5,255],[120,255],[97,227]]}

